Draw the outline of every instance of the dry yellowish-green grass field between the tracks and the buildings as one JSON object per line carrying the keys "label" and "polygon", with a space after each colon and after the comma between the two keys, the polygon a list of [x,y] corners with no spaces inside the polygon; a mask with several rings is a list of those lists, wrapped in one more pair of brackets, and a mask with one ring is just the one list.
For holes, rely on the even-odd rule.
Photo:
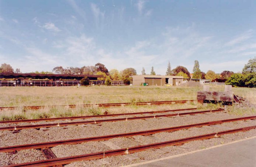
{"label": "dry yellowish-green grass field between the tracks and the buildings", "polygon": [[[23,111],[23,106],[61,105],[61,104],[96,104],[121,102],[146,102],[165,100],[193,100],[197,91],[202,87],[165,87],[165,86],[91,86],[91,87],[0,87],[0,106],[18,106],[15,111],[2,111],[0,120],[15,120],[26,118],[64,117],[80,115],[103,114],[104,108],[76,108],[66,109],[56,107],[37,111]],[[211,91],[223,91],[224,86],[210,86]],[[256,88],[232,88],[235,95],[245,97],[256,104]],[[189,107],[202,107],[188,103],[163,106],[129,106],[111,107],[108,113],[139,112],[152,110],[167,110]],[[208,106],[217,108],[219,106]],[[235,109],[231,110],[231,113]],[[239,111],[239,113],[243,111]],[[250,110],[255,112],[255,109]],[[234,112],[236,113],[236,112]]]}

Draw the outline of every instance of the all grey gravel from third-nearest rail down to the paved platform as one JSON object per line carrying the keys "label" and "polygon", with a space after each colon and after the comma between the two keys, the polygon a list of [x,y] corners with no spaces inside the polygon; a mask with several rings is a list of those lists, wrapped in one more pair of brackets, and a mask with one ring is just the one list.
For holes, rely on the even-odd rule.
{"label": "all grey gravel from third-nearest rail down to the paved platform", "polygon": [[[149,129],[158,129],[166,127],[174,127],[179,125],[195,124],[200,122],[222,120],[237,118],[241,116],[229,115],[225,112],[218,113],[207,113],[207,114],[197,114],[197,115],[186,115],[186,116],[176,116],[176,117],[162,117],[162,118],[151,118],[146,120],[134,120],[134,121],[120,121],[120,122],[103,122],[101,124],[88,124],[88,125],[72,125],[67,127],[51,127],[51,128],[40,128],[37,129],[24,129],[21,131],[0,131],[0,146],[11,146],[20,145],[35,142],[48,142],[48,141],[58,141],[66,139],[76,139],[85,138],[91,136],[102,136],[111,135],[118,133],[127,133],[135,131],[145,131]],[[243,116],[245,117],[245,116]],[[116,138],[110,139],[114,145],[121,148],[127,148],[137,145],[145,145],[149,143],[169,141],[178,138],[184,138],[189,136],[201,135],[215,131],[225,131],[231,128],[247,127],[250,125],[255,125],[255,120],[248,121],[238,121],[229,122],[220,125],[206,126],[202,128],[190,128],[187,130],[175,131],[171,133],[159,133],[153,134],[151,136],[132,136],[129,138]],[[166,147],[155,150],[148,150],[146,152],[134,153],[134,155],[140,157],[139,160],[129,160],[124,156],[116,157],[106,157],[103,166],[122,166],[125,164],[136,163],[144,160],[156,159],[159,157],[170,156],[172,154],[179,154],[195,149],[201,149],[202,147],[209,147],[212,145],[217,145],[220,143],[231,142],[233,140],[242,139],[245,137],[255,136],[256,130],[253,129],[249,132],[238,133],[241,135],[225,135],[222,138],[209,139],[204,141],[196,141],[190,146],[190,143],[184,144],[183,146],[177,147]],[[227,137],[226,137],[227,136]],[[16,139],[16,140],[10,140]],[[216,141],[215,141],[216,140]],[[210,141],[210,142],[208,142]],[[213,141],[213,143],[212,143]],[[197,142],[203,142],[197,144]],[[195,145],[195,146],[194,146]],[[175,148],[175,149],[173,149]],[[68,150],[68,151],[63,151]],[[73,156],[79,154],[87,154],[100,152],[105,150],[111,150],[108,146],[101,142],[87,142],[79,145],[60,145],[52,148],[52,151],[57,157]],[[174,150],[174,151],[173,151]],[[149,152],[149,153],[148,153]],[[23,156],[26,155],[26,156]],[[20,158],[21,157],[21,158]],[[0,154],[1,165],[6,165],[8,163],[22,163],[25,161],[35,161],[44,159],[42,153],[39,150],[23,150],[17,154],[9,155],[7,153]],[[69,164],[67,166],[98,166],[100,164],[98,161],[82,161]],[[102,164],[100,164],[102,166]]]}

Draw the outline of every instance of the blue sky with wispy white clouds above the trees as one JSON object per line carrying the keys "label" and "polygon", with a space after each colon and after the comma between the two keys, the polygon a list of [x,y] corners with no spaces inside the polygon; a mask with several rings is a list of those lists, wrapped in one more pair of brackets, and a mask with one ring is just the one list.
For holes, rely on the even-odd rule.
{"label": "blue sky with wispy white clouds above the trees", "polygon": [[255,31],[255,0],[0,0],[0,64],[241,72]]}

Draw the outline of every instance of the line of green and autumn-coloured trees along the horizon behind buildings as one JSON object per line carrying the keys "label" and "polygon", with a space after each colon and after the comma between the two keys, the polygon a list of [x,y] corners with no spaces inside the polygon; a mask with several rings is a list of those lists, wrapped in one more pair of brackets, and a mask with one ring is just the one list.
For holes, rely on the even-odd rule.
{"label": "line of green and autumn-coloured trees along the horizon behind buildings", "polygon": [[[20,69],[17,68],[15,71],[10,64],[1,64],[0,72],[5,73],[20,73]],[[73,75],[102,75],[103,77],[98,78],[98,80],[123,80],[124,84],[130,84],[131,78],[129,76],[136,75],[136,70],[134,68],[125,68],[122,71],[117,69],[112,69],[108,71],[104,64],[97,63],[94,66],[83,66],[79,67],[66,67],[62,66],[54,67],[52,72],[48,71],[35,71],[31,73],[41,73],[41,74],[73,74]],[[142,67],[142,75],[146,75],[145,68]],[[151,68],[150,75],[156,75],[154,67]],[[166,75],[176,75],[183,76],[183,78],[190,79],[210,79],[211,82],[226,82],[226,84],[233,86],[243,86],[243,87],[256,87],[256,58],[252,58],[245,64],[242,73],[234,73],[233,71],[222,71],[220,74],[216,74],[212,70],[208,70],[206,73],[200,70],[200,65],[197,60],[194,61],[193,73],[187,70],[186,67],[181,65],[177,66],[173,70],[171,69],[170,61],[167,64]],[[111,84],[111,83],[110,83]]]}

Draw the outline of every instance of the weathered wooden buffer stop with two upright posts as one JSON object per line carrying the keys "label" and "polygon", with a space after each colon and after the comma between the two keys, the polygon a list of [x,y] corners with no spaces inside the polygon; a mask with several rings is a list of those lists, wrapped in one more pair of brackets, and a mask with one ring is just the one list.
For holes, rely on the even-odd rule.
{"label": "weathered wooden buffer stop with two upright posts", "polygon": [[222,102],[225,105],[232,104],[234,101],[234,92],[232,85],[225,85],[224,92],[211,92],[209,85],[204,85],[203,91],[197,92],[197,100],[203,100],[204,103]]}

